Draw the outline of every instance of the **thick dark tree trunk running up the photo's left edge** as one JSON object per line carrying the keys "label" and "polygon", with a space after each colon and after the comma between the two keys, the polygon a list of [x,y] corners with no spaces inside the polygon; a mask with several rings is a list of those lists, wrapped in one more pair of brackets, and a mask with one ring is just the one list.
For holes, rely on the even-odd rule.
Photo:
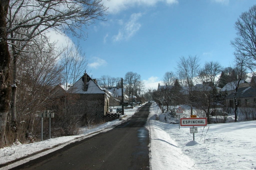
{"label": "thick dark tree trunk running up the photo's left edge", "polygon": [[11,99],[10,64],[6,34],[6,16],[9,0],[0,1],[0,147],[4,147],[5,127]]}

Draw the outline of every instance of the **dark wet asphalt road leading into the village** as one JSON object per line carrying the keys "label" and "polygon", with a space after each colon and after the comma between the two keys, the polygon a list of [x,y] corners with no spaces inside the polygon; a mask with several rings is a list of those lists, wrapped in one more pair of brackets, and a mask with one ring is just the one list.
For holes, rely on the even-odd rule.
{"label": "dark wet asphalt road leading into the village", "polygon": [[149,170],[149,132],[145,128],[150,104],[105,133],[70,144],[13,169]]}

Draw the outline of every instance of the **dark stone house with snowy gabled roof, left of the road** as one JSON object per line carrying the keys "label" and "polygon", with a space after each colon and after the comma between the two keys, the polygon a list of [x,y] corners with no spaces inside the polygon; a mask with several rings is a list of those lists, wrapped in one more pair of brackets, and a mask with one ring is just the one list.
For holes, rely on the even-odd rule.
{"label": "dark stone house with snowy gabled roof, left of the road", "polygon": [[76,98],[72,108],[77,115],[81,115],[84,122],[102,121],[109,109],[109,94],[106,89],[97,85],[96,79],[87,73],[67,90]]}

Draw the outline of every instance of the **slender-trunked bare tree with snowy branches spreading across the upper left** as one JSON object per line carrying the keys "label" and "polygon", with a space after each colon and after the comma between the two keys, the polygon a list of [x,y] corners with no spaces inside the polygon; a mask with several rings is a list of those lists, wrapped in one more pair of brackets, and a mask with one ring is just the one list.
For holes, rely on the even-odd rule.
{"label": "slender-trunked bare tree with snowy branches spreading across the upper left", "polygon": [[[73,36],[79,38],[86,37],[83,28],[92,24],[95,19],[104,20],[103,15],[106,14],[107,8],[103,6],[101,0],[12,0],[3,2],[1,5],[5,7],[3,11],[6,12],[3,19],[7,21],[7,24],[3,22],[1,28],[6,29],[7,41],[12,47],[12,124],[16,129],[17,62],[21,52],[24,52],[29,45],[39,46],[36,42],[38,37],[42,37],[41,39],[49,45],[46,33],[51,30],[59,34],[72,33]],[[9,14],[7,15],[8,5]],[[35,52],[33,49],[32,51]]]}

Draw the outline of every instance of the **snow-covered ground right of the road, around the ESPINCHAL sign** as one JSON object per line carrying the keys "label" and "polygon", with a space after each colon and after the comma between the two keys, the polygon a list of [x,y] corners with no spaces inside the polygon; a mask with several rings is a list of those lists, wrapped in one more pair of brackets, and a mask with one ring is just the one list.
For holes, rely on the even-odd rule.
{"label": "snow-covered ground right of the road, around the ESPINCHAL sign", "polygon": [[[156,112],[154,103],[150,119]],[[256,169],[256,121],[198,126],[195,141],[190,127],[150,120],[149,128],[152,170]]]}

